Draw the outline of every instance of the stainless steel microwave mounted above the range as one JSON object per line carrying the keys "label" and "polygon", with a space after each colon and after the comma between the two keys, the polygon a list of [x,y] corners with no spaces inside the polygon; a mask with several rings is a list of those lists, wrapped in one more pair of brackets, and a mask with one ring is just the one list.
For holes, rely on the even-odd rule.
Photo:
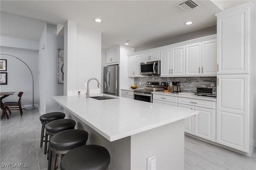
{"label": "stainless steel microwave mounted above the range", "polygon": [[140,63],[140,74],[160,75],[160,61],[149,61]]}

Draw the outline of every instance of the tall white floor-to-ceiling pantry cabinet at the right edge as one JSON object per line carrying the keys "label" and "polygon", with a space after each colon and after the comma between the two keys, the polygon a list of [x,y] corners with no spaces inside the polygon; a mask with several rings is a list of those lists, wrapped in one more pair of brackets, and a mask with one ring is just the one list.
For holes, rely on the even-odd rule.
{"label": "tall white floor-to-ceiling pantry cabinet at the right edge", "polygon": [[250,155],[256,139],[255,4],[217,16],[216,142]]}

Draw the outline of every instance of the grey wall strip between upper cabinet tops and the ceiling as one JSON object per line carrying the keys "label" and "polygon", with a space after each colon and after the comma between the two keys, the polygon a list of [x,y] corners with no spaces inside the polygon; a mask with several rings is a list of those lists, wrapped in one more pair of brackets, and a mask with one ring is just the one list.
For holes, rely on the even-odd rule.
{"label": "grey wall strip between upper cabinet tops and the ceiling", "polygon": [[153,42],[149,42],[145,45],[142,45],[140,47],[136,47],[134,49],[134,52],[138,52],[138,51],[144,51],[147,49],[153,49],[156,47],[162,47],[164,45],[170,45],[170,44],[174,44],[174,43],[179,43],[182,41],[188,41],[190,39],[196,39],[196,38],[200,38],[200,37],[205,37],[208,35],[213,35],[217,33],[217,26],[212,26],[212,27],[208,27],[205,29],[200,29],[198,31],[194,31],[191,33],[186,33],[183,35],[178,35],[176,37],[171,37],[171,38],[167,38],[167,39],[162,39],[160,41],[153,41]]}

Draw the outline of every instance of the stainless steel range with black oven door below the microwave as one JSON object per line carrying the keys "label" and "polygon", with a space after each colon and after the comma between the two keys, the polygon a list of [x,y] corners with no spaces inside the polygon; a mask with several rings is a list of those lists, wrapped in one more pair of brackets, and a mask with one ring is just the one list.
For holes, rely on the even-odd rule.
{"label": "stainless steel range with black oven door below the microwave", "polygon": [[144,102],[153,102],[152,92],[164,91],[164,84],[166,82],[147,82],[146,89],[134,90],[134,100],[141,100]]}

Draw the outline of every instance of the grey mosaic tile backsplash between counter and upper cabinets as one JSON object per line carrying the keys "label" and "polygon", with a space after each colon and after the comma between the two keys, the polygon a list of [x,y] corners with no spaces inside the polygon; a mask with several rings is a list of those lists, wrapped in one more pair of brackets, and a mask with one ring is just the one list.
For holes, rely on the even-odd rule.
{"label": "grey mosaic tile backsplash between counter and upper cabinets", "polygon": [[[139,85],[141,82],[141,85]],[[134,78],[134,84],[137,84],[139,88],[146,88],[147,82],[180,82],[180,90],[182,92],[196,92],[197,86],[216,86],[217,77],[160,77],[160,76],[148,76],[148,77],[136,77]],[[173,87],[171,87],[173,90]]]}

